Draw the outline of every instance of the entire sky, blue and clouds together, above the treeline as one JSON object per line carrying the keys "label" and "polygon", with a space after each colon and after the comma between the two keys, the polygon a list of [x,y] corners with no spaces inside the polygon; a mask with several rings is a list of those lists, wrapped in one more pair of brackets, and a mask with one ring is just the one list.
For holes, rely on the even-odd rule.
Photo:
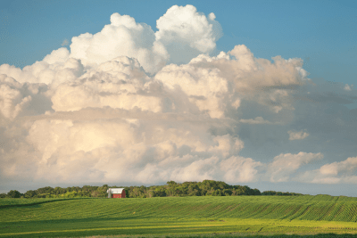
{"label": "entire sky, blue and clouds together, above the treeline", "polygon": [[0,193],[213,179],[357,196],[355,1],[0,1]]}

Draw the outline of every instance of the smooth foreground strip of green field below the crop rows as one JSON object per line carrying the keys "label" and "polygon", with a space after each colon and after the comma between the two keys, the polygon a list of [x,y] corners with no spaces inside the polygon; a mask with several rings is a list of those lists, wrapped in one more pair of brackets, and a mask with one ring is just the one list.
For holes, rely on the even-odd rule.
{"label": "smooth foreground strip of green field below the crop rows", "polygon": [[[203,238],[203,237],[251,237],[251,238],[353,238],[357,234],[334,234],[332,231],[313,231],[311,227],[290,227],[291,230],[271,231],[262,226],[237,226],[236,224],[220,226],[220,222],[201,226],[187,220],[145,220],[133,217],[90,217],[31,220],[4,222],[0,226],[0,238],[3,237],[97,237],[107,235],[129,238]],[[145,217],[147,218],[147,217]],[[211,220],[209,220],[211,221]],[[267,228],[267,230],[265,230]],[[286,228],[286,227],[284,227]],[[230,233],[229,233],[230,232]],[[326,234],[318,234],[327,232]],[[333,231],[345,233],[344,230]],[[278,234],[281,233],[281,234]],[[296,234],[295,234],[296,233]],[[317,234],[314,234],[317,233]]]}

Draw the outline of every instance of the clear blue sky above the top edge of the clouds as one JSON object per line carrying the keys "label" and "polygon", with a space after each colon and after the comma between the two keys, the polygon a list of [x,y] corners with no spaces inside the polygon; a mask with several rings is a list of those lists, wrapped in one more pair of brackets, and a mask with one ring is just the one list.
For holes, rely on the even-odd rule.
{"label": "clear blue sky above the top edge of the clouds", "polygon": [[255,57],[302,58],[311,78],[353,84],[357,62],[355,1],[2,1],[0,64],[40,61],[64,39],[96,33],[113,12],[154,30],[170,6],[214,12],[223,29],[218,51],[247,45]]}

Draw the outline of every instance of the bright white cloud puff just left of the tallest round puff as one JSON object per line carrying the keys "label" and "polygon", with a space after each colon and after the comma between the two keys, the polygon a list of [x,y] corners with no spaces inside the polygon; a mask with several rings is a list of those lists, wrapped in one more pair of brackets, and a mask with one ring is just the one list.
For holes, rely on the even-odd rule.
{"label": "bright white cloud puff just left of the tallest round puff", "polygon": [[165,47],[155,42],[150,26],[119,13],[113,13],[111,24],[100,32],[72,37],[70,48],[70,57],[81,60],[87,67],[128,56],[136,58],[147,72],[154,72],[169,57]]}

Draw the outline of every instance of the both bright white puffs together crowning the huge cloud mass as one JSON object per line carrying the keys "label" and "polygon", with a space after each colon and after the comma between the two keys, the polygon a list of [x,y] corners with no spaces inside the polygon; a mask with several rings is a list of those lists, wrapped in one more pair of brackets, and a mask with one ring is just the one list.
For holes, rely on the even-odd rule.
{"label": "both bright white puffs together crowning the huge cloud mass", "polygon": [[209,53],[220,38],[220,23],[207,19],[195,6],[172,6],[158,21],[157,32],[128,15],[113,13],[111,24],[95,35],[72,38],[71,57],[95,66],[118,56],[136,58],[146,72],[157,72],[166,62],[188,62]]}

